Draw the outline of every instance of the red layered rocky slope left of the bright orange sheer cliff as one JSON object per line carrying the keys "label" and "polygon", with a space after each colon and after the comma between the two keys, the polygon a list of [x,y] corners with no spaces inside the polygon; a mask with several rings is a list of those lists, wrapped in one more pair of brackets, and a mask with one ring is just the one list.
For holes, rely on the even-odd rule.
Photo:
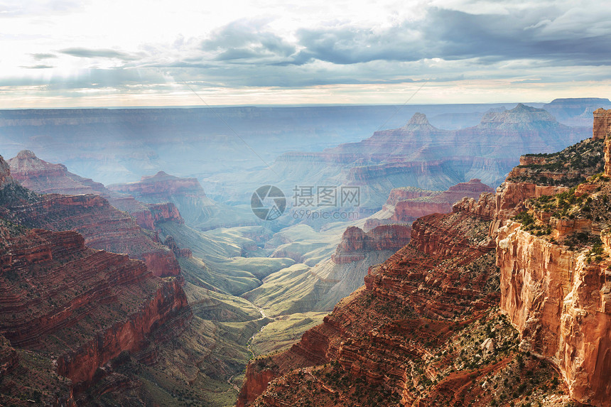
{"label": "red layered rocky slope left of the bright orange sheer cliff", "polygon": [[517,332],[494,308],[490,222],[468,209],[418,219],[409,246],[370,268],[366,286],[323,325],[290,350],[249,364],[238,406],[566,400],[550,394],[558,381],[551,366],[519,352]]}

